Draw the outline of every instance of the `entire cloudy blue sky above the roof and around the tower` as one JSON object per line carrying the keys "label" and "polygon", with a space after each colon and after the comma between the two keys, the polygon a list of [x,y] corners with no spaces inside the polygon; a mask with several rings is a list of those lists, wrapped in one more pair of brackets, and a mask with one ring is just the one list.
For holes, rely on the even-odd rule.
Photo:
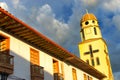
{"label": "entire cloudy blue sky above the roof and around the tower", "polygon": [[0,0],[0,6],[79,56],[80,19],[98,18],[115,80],[120,80],[120,0]]}

